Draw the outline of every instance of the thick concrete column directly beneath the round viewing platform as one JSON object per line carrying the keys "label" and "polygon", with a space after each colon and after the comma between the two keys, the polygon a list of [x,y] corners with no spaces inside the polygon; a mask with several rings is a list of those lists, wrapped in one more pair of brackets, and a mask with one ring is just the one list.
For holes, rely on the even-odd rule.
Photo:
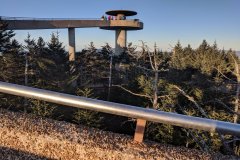
{"label": "thick concrete column directly beneath the round viewing platform", "polygon": [[115,55],[120,55],[127,46],[127,31],[123,29],[116,30]]}

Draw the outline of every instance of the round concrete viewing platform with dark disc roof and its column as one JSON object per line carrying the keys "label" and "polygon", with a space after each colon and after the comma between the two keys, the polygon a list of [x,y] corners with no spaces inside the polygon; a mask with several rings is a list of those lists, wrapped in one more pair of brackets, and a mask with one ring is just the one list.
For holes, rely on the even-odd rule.
{"label": "round concrete viewing platform with dark disc roof and its column", "polygon": [[143,23],[138,19],[126,19],[127,16],[137,15],[137,12],[135,11],[112,10],[107,11],[106,14],[109,16],[114,16],[114,19],[110,20],[110,25],[108,27],[100,28],[115,30],[115,55],[120,55],[127,47],[127,30],[143,29]]}

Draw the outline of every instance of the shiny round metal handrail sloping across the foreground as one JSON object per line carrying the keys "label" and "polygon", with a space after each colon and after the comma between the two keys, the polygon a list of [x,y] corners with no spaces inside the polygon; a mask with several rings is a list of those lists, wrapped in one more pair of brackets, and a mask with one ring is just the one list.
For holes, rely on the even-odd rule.
{"label": "shiny round metal handrail sloping across the foreground", "polygon": [[120,116],[141,118],[148,121],[171,124],[185,128],[240,136],[240,124],[234,124],[230,122],[186,116],[177,113],[162,112],[154,109],[84,98],[6,82],[0,82],[0,92],[76,108],[84,108]]}

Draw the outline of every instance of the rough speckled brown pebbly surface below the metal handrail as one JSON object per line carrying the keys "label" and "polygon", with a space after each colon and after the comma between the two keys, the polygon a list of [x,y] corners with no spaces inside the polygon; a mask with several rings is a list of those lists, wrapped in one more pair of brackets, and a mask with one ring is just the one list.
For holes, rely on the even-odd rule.
{"label": "rough speckled brown pebbly surface below the metal handrail", "polygon": [[0,159],[238,159],[0,109]]}

